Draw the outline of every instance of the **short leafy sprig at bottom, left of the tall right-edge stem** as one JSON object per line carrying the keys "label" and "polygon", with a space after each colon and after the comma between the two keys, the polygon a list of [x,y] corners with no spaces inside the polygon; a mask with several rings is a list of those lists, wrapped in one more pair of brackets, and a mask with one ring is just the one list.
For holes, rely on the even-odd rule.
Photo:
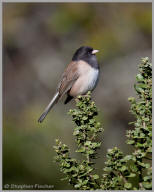
{"label": "short leafy sprig at bottom, left of the tall right-edge stem", "polygon": [[132,165],[133,156],[126,155],[117,147],[109,149],[107,153],[107,161],[105,162],[101,188],[103,190],[136,190],[131,180],[136,178],[137,172]]}

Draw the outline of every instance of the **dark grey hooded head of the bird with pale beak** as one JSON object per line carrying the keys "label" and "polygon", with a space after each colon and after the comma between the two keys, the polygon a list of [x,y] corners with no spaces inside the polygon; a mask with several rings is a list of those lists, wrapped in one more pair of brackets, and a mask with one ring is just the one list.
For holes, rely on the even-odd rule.
{"label": "dark grey hooded head of the bird with pale beak", "polygon": [[92,47],[82,46],[76,50],[73,55],[72,61],[83,60],[90,64],[92,67],[98,68],[98,63],[95,55],[97,52],[98,50],[94,50]]}

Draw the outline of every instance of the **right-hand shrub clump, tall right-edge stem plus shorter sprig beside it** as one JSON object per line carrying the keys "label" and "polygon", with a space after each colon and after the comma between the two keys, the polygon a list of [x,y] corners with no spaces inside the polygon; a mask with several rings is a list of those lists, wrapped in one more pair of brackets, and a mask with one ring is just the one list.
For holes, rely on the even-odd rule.
{"label": "right-hand shrub clump, tall right-edge stem plus shorter sprig beside it", "polygon": [[138,99],[129,98],[135,128],[126,135],[134,151],[126,156],[117,148],[108,151],[101,185],[105,190],[152,189],[152,65],[147,57],[141,60],[136,80]]}

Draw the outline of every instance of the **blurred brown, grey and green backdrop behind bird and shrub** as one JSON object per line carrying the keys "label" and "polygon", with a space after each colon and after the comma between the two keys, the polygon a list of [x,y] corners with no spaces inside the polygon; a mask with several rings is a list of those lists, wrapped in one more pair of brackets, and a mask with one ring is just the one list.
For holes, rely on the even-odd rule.
{"label": "blurred brown, grey and green backdrop behind bird and shrub", "polygon": [[[151,61],[151,3],[3,3],[3,184],[52,185],[71,189],[53,162],[55,139],[75,154],[71,117],[74,101],[63,98],[42,124],[37,120],[52,98],[74,51],[99,49],[101,73],[92,94],[104,133],[95,161],[101,175],[106,151],[124,153],[132,129],[129,96],[141,57]],[[48,188],[46,188],[48,189]]]}

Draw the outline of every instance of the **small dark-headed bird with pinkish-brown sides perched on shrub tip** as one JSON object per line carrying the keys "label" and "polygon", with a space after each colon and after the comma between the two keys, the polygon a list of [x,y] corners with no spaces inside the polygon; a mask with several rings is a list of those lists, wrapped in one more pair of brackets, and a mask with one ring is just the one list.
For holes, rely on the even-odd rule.
{"label": "small dark-headed bird with pinkish-brown sides perched on shrub tip", "polygon": [[73,54],[72,61],[64,70],[57,90],[43,114],[38,119],[39,123],[45,119],[51,108],[67,95],[64,104],[79,95],[85,95],[88,91],[93,91],[97,85],[100,67],[96,58],[99,50],[90,46],[81,46]]}

